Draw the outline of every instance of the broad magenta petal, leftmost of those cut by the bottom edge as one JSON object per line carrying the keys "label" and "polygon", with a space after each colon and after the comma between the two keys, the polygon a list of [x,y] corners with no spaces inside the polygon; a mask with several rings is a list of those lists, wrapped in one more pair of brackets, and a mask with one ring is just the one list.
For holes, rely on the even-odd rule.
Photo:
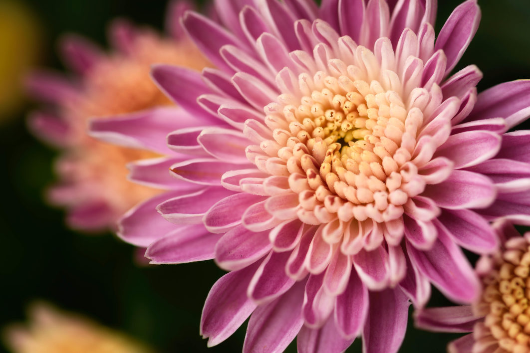
{"label": "broad magenta petal, leftmost of those cut by the bottom edge", "polygon": [[281,352],[287,348],[304,324],[304,285],[304,281],[296,283],[272,303],[258,306],[250,316],[243,352]]}

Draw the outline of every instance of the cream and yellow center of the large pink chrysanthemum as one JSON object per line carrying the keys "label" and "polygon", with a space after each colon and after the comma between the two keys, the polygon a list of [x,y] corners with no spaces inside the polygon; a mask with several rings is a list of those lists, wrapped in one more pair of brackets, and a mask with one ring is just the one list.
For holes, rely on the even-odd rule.
{"label": "cream and yellow center of the large pink chrysanthemum", "polygon": [[407,107],[390,80],[385,84],[371,51],[357,50],[362,65],[329,60],[327,71],[299,74],[296,92],[266,107],[306,223],[392,221],[425,188],[411,162],[423,114]]}

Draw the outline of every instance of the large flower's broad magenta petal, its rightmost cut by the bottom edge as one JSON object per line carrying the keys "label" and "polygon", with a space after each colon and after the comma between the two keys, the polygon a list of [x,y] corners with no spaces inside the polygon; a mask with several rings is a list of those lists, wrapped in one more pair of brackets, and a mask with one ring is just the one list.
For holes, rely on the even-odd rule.
{"label": "large flower's broad magenta petal, its rightmost cut by the bottom edge", "polygon": [[407,330],[409,300],[399,288],[370,292],[370,309],[363,329],[363,352],[394,353]]}

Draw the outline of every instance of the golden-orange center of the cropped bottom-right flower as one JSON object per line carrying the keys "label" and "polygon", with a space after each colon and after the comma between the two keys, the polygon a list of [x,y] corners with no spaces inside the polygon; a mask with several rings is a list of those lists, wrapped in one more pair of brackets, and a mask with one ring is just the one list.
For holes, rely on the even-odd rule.
{"label": "golden-orange center of the cropped bottom-right flower", "polygon": [[494,269],[483,277],[484,291],[475,310],[485,315],[481,338],[493,336],[507,351],[530,351],[530,244],[510,239],[493,257]]}

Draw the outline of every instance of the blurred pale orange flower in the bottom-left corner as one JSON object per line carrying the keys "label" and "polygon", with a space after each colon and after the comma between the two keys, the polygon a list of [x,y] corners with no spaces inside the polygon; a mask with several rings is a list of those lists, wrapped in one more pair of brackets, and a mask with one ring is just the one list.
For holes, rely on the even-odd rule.
{"label": "blurred pale orange flower in the bottom-left corner", "polygon": [[8,327],[5,341],[13,353],[149,353],[142,344],[49,304],[30,308],[28,328]]}

